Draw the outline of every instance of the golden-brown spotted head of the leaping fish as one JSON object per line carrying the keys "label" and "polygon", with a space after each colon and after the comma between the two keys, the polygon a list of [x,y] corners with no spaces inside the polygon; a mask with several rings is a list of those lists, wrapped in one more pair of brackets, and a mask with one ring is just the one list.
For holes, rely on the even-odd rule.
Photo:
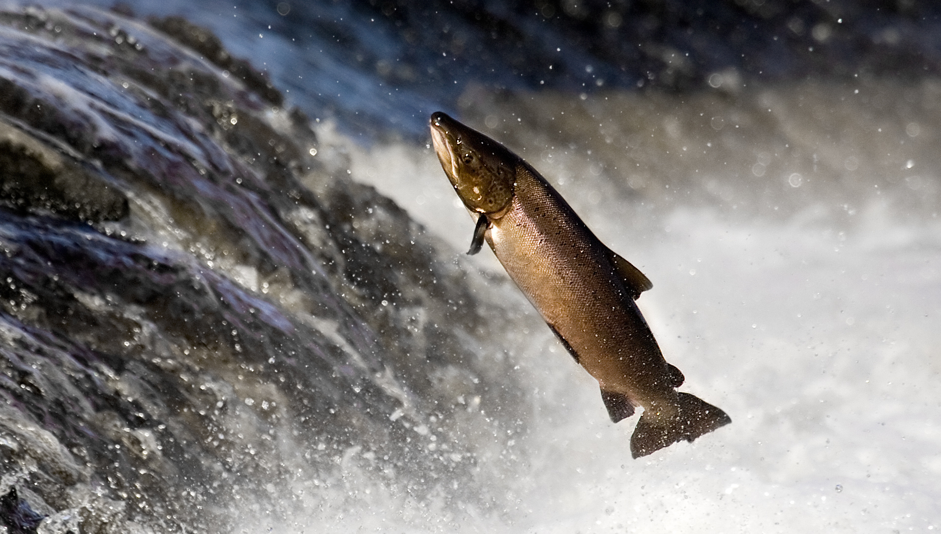
{"label": "golden-brown spotted head of the leaping fish", "polygon": [[513,202],[518,155],[440,111],[431,116],[431,138],[444,173],[471,211],[499,218]]}

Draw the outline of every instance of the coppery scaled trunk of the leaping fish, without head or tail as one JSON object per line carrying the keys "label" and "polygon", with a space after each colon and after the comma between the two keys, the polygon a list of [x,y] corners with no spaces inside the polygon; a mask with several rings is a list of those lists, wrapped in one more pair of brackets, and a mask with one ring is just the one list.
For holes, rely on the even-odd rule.
{"label": "coppery scaled trunk of the leaping fish, without head or tail", "polygon": [[528,167],[518,169],[513,205],[491,221],[487,244],[603,391],[672,412],[670,369],[611,252]]}

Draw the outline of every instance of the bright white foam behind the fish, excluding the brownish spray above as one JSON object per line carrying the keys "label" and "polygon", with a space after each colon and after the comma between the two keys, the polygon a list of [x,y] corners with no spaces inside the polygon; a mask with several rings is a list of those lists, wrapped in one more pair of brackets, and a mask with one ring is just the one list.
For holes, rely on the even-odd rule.
{"label": "bright white foam behind the fish, excluding the brownish spray above", "polygon": [[[455,206],[431,150],[353,147],[350,157],[355,178],[455,250],[466,248],[472,220]],[[591,160],[575,163],[588,169]],[[573,165],[558,172],[575,175]],[[554,172],[546,172],[550,181]],[[611,424],[597,384],[564,351],[508,346],[533,377],[535,409],[532,432],[513,445],[518,471],[500,480],[513,483],[499,510],[435,515],[419,506],[418,521],[395,499],[366,499],[351,504],[344,525],[552,533],[941,527],[941,486],[933,483],[941,472],[937,218],[894,213],[888,191],[855,199],[850,226],[827,206],[788,217],[769,206],[767,217],[732,219],[722,202],[701,201],[638,224],[616,217],[634,205],[630,198],[610,186],[591,197],[585,188],[571,195],[576,210],[654,283],[639,304],[667,360],[686,375],[681,390],[725,409],[732,425],[631,460],[634,419]],[[480,265],[499,269],[488,253]],[[531,336],[537,345],[549,338],[548,329]]]}

